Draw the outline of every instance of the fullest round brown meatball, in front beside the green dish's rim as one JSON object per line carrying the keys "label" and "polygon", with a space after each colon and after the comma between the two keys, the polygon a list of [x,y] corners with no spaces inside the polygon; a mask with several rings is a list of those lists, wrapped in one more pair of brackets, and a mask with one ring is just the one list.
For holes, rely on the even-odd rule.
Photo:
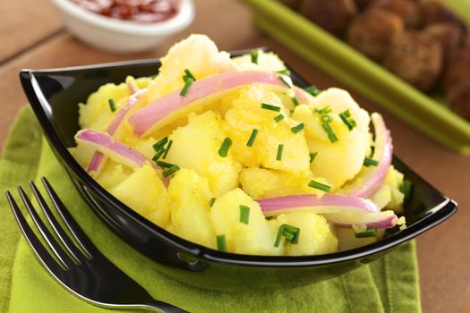
{"label": "fullest round brown meatball, in front beside the green dish's rim", "polygon": [[393,39],[384,66],[417,89],[432,89],[442,69],[439,41],[417,30],[406,30]]}

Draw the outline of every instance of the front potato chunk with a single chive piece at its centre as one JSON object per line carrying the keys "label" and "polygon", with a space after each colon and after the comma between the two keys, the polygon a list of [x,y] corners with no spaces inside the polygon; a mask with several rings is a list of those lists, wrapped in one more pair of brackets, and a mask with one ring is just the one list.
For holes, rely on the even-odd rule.
{"label": "front potato chunk with a single chive piece at its centre", "polygon": [[[250,207],[248,224],[240,221],[240,206]],[[260,205],[236,188],[218,197],[210,209],[217,235],[226,236],[226,249],[241,254],[280,255],[274,247],[276,236],[264,218]]]}

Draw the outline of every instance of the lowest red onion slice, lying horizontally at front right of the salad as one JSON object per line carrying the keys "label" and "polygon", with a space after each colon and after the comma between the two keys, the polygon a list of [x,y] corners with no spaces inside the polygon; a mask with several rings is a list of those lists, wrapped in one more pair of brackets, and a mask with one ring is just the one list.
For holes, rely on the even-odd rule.
{"label": "lowest red onion slice, lying horizontally at front right of the salad", "polygon": [[325,194],[319,199],[315,195],[305,194],[257,201],[265,216],[308,211],[325,216],[329,222],[343,227],[363,224],[367,227],[387,229],[397,223],[397,216],[393,211],[380,212],[371,200],[357,197]]}

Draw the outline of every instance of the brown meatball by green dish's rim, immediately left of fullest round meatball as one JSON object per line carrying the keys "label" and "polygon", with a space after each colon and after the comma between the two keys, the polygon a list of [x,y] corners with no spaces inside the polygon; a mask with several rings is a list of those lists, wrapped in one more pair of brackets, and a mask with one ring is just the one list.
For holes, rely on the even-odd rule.
{"label": "brown meatball by green dish's rim, immediately left of fullest round meatball", "polygon": [[347,42],[375,61],[382,61],[395,36],[403,31],[403,21],[381,9],[367,10],[355,17],[347,32]]}

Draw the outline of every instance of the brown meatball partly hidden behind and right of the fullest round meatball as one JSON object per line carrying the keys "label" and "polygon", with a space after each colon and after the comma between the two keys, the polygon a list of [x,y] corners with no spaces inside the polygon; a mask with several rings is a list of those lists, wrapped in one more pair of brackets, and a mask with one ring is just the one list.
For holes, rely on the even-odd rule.
{"label": "brown meatball partly hidden behind and right of the fullest round meatball", "polygon": [[449,56],[456,53],[462,47],[466,38],[460,27],[454,22],[444,21],[431,24],[424,29],[424,32],[440,42],[444,60],[447,63]]}

